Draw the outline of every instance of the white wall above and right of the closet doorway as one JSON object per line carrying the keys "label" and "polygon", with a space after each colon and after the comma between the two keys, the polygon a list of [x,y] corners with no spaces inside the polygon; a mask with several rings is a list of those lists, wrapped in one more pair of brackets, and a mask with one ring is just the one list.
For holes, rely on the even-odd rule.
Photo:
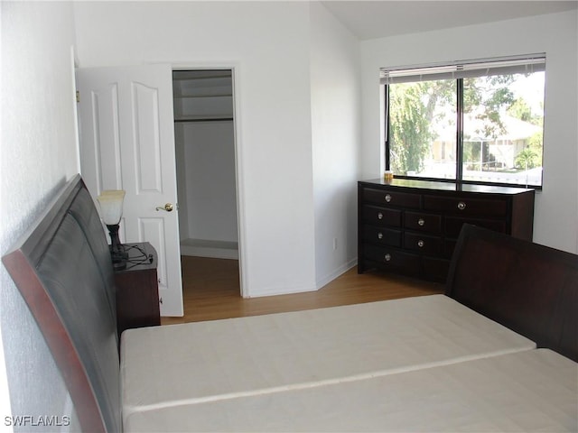
{"label": "white wall above and right of the closet doorway", "polygon": [[309,5],[78,2],[74,8],[81,67],[235,68],[243,287],[248,296],[314,290]]}

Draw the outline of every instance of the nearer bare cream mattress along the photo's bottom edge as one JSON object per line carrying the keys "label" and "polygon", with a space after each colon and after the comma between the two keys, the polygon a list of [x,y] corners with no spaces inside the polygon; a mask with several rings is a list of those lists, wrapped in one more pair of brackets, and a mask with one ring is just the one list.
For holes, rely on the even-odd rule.
{"label": "nearer bare cream mattress along the photo's bottom edge", "polygon": [[578,364],[548,349],[136,412],[125,431],[577,431]]}

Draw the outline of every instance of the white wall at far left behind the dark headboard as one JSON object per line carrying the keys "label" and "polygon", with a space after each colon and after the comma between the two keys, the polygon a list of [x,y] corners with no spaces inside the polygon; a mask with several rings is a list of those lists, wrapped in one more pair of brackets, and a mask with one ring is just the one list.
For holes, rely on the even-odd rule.
{"label": "white wall at far left behind the dark headboard", "polygon": [[[72,5],[1,5],[0,249],[4,254],[55,192],[79,170]],[[9,415],[73,415],[61,375],[4,266],[0,267],[0,279],[0,325],[12,406],[11,411],[0,407],[3,426]]]}

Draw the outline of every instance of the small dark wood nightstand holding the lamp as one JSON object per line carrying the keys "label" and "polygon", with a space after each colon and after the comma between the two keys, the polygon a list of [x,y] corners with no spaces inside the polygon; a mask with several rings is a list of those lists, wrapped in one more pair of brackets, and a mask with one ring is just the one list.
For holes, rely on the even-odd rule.
{"label": "small dark wood nightstand holding the lamp", "polygon": [[115,272],[118,336],[128,328],[161,324],[156,251],[148,242],[124,246],[126,269]]}

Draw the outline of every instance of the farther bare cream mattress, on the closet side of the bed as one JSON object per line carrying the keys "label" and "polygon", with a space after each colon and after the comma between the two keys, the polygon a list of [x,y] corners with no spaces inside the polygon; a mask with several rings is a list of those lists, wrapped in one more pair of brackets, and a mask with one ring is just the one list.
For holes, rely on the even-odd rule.
{"label": "farther bare cream mattress, on the closet side of the bed", "polygon": [[126,330],[124,417],[535,348],[444,295]]}

